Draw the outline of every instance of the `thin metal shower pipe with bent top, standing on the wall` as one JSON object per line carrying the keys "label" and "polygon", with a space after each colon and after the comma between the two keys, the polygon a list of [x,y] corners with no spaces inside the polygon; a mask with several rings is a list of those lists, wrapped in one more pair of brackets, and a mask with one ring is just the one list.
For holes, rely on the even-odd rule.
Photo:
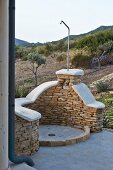
{"label": "thin metal shower pipe with bent top, standing on the wall", "polygon": [[64,24],[68,28],[68,49],[67,49],[67,70],[69,71],[69,63],[70,63],[70,57],[69,57],[69,36],[70,36],[70,28],[69,26],[64,22],[61,21],[60,24]]}

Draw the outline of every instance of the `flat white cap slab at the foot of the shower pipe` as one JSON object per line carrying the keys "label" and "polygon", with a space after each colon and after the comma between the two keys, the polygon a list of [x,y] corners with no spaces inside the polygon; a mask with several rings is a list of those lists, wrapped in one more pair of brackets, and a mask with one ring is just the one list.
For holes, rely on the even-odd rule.
{"label": "flat white cap slab at the foot of the shower pipe", "polygon": [[71,75],[71,76],[83,76],[84,71],[81,69],[62,69],[59,71],[56,71],[56,74],[63,74],[63,75]]}

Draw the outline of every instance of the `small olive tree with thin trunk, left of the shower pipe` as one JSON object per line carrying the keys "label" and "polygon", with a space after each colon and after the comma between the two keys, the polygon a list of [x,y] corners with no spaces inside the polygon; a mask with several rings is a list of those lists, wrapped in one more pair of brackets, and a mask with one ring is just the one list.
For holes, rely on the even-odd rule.
{"label": "small olive tree with thin trunk, left of the shower pipe", "polygon": [[38,54],[37,52],[29,53],[28,54],[28,60],[31,63],[31,68],[29,68],[34,76],[34,82],[35,86],[37,86],[37,73],[38,73],[38,68],[42,65],[45,64],[46,59],[44,56],[41,54]]}

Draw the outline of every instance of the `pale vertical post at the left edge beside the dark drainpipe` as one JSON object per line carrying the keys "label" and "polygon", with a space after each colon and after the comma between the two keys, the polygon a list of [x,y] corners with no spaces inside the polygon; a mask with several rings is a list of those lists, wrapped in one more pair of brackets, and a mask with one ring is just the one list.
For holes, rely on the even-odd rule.
{"label": "pale vertical post at the left edge beside the dark drainpipe", "polygon": [[0,170],[8,169],[8,0],[0,0]]}

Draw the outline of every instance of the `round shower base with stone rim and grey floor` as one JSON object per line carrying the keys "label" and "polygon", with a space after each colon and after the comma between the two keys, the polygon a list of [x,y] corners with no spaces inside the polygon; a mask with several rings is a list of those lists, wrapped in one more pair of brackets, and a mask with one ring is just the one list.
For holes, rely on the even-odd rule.
{"label": "round shower base with stone rim and grey floor", "polygon": [[40,146],[65,146],[85,141],[90,136],[89,127],[84,129],[60,125],[40,125]]}

